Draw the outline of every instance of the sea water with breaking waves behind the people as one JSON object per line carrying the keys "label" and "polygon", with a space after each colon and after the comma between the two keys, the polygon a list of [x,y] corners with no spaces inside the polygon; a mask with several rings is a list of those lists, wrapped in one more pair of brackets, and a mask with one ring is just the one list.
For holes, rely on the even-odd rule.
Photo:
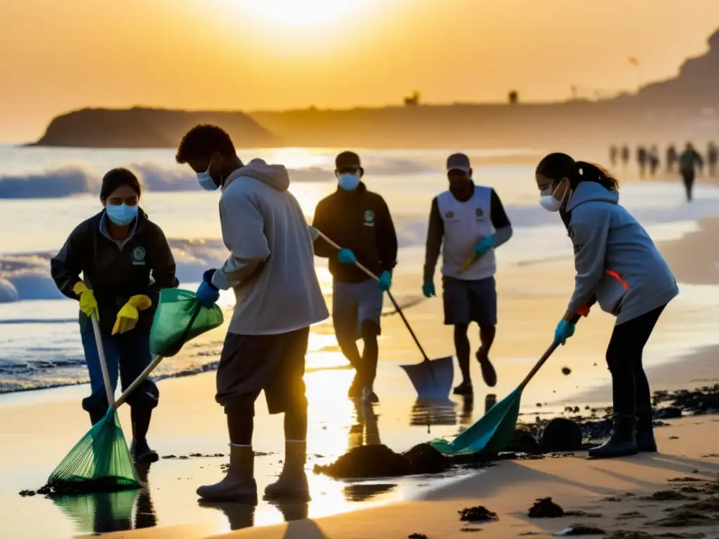
{"label": "sea water with breaking waves behind the people", "polygon": [[[419,295],[403,287],[406,275],[416,280],[423,264],[423,243],[431,198],[446,188],[441,170],[449,151],[361,152],[370,189],[381,193],[393,213],[400,238],[395,290],[400,303]],[[521,155],[523,149],[472,152],[472,155]],[[311,218],[320,198],[334,190],[334,150],[248,150],[242,157],[283,162],[291,170],[291,190]],[[201,273],[224,261],[219,238],[218,193],[206,193],[186,167],[173,162],[170,150],[86,150],[0,146],[0,392],[86,382],[76,324],[76,304],[63,298],[49,278],[48,259],[70,231],[99,211],[96,194],[102,172],[132,166],[147,186],[142,206],[162,226],[178,262],[181,286],[194,290]],[[478,167],[475,178],[493,186],[503,200],[515,234],[498,252],[501,267],[531,265],[567,257],[567,237],[557,216],[537,204],[533,170],[526,166]],[[679,185],[633,183],[623,187],[622,201],[647,226],[654,239],[675,239],[692,231],[697,219],[719,213],[719,190],[700,185],[696,201],[684,203]],[[45,197],[45,198],[43,198]],[[328,301],[331,277],[326,261],[317,261]],[[401,292],[400,292],[401,290]],[[527,293],[551,293],[528,280]],[[231,308],[232,294],[222,302]],[[4,303],[3,303],[4,302]],[[164,376],[198,372],[217,361],[221,331],[186,347]],[[316,327],[308,367],[346,364],[336,351],[329,326]]]}

